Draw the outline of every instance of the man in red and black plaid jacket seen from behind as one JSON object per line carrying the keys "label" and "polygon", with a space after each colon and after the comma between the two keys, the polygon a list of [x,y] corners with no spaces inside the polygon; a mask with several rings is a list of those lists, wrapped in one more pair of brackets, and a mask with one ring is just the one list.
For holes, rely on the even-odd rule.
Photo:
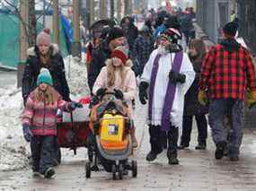
{"label": "man in red and black plaid jacket seen from behind", "polygon": [[216,143],[216,160],[223,158],[227,146],[226,116],[233,128],[228,148],[230,161],[239,160],[245,91],[249,105],[256,101],[252,56],[234,39],[237,28],[235,22],[225,25],[225,39],[208,52],[200,74],[199,101],[206,104],[209,99],[209,125]]}

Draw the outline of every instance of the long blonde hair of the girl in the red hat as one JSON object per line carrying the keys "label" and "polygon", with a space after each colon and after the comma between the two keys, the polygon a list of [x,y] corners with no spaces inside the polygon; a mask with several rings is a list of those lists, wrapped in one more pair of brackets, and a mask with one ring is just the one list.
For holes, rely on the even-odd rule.
{"label": "long blonde hair of the girl in the red hat", "polygon": [[[107,59],[106,60],[106,66],[107,66],[107,87],[111,87],[115,84],[116,82],[116,75],[115,75],[115,71],[116,71],[116,66],[114,66],[113,64],[113,58]],[[120,65],[120,70],[119,70],[119,75],[121,78],[121,84],[124,84],[126,75],[127,75],[127,71],[125,66],[132,66],[132,61],[128,60],[126,62],[125,65]]]}

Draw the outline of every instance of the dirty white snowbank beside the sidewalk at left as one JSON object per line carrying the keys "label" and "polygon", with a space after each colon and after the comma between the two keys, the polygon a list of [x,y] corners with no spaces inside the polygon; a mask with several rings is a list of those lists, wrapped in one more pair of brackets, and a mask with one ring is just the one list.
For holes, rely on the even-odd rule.
{"label": "dirty white snowbank beside the sidewalk at left", "polygon": [[[86,66],[72,56],[65,58],[71,98],[89,95]],[[0,76],[1,78],[1,76]],[[28,166],[29,143],[22,136],[22,91],[16,84],[0,87],[0,171]]]}

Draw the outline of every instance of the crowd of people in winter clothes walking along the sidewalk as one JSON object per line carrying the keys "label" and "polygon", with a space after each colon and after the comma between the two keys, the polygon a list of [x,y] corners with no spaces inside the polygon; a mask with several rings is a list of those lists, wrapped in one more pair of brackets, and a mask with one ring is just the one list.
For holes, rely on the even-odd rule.
{"label": "crowd of people in winter clothes walking along the sidewalk", "polygon": [[[236,42],[235,22],[225,25],[224,40],[207,52],[204,42],[195,39],[194,18],[192,8],[175,13],[150,10],[143,27],[137,29],[134,18],[127,16],[120,25],[103,26],[86,48],[91,104],[96,103],[94,96],[112,91],[127,102],[132,120],[133,110],[139,107],[134,101],[137,90],[141,104],[147,104],[151,150],[146,161],[154,161],[167,148],[168,163],[179,164],[178,149],[190,146],[193,117],[199,130],[196,149],[207,148],[209,122],[216,160],[225,153],[230,161],[239,160],[244,102],[249,107],[256,102],[252,55]],[[181,46],[182,37],[188,51]],[[49,30],[41,31],[35,47],[28,50],[22,96],[22,126],[26,141],[31,142],[32,170],[50,178],[56,161],[55,112],[81,106],[70,100],[63,58],[50,42]],[[131,137],[137,147],[134,123]]]}

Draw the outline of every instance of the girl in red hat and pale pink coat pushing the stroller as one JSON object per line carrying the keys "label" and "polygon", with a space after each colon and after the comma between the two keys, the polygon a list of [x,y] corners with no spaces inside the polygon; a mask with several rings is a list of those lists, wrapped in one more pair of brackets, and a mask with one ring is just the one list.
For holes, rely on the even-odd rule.
{"label": "girl in red hat and pale pink coat pushing the stroller", "polygon": [[[106,66],[93,86],[93,94],[102,96],[106,91],[112,91],[115,97],[125,100],[128,104],[128,116],[132,119],[132,100],[135,99],[137,83],[136,76],[131,69],[132,62],[128,59],[128,49],[125,47],[115,48],[111,58],[106,61]],[[131,128],[131,139],[133,147],[137,147],[135,126]]]}

